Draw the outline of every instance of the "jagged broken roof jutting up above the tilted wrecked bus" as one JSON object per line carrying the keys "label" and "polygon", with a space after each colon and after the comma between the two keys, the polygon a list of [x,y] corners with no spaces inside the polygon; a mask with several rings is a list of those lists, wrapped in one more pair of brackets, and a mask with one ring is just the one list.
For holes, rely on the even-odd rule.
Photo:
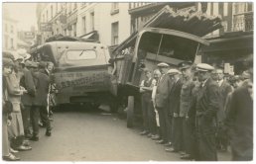
{"label": "jagged broken roof jutting up above the tilted wrecked bus", "polygon": [[[203,37],[221,27],[221,18],[218,16],[207,16],[205,13],[195,12],[193,9],[176,13],[169,6],[164,7],[143,26],[143,28],[181,31],[197,37]],[[132,34],[127,40],[121,42],[113,52],[134,45],[137,35],[138,32]]]}

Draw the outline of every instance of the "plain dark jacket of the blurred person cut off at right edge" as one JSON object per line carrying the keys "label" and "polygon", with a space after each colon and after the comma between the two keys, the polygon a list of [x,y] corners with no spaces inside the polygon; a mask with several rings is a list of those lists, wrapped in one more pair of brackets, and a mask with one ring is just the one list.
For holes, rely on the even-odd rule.
{"label": "plain dark jacket of the blurred person cut off at right edge", "polygon": [[225,120],[231,147],[236,154],[253,154],[253,100],[244,86],[232,94]]}

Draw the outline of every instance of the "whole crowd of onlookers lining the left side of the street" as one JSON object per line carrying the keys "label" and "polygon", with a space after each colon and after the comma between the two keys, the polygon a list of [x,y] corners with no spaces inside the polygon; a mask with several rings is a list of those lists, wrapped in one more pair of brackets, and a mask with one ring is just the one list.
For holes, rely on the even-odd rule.
{"label": "whole crowd of onlookers lining the left side of the street", "polygon": [[40,120],[51,136],[49,95],[52,86],[52,62],[34,62],[21,51],[4,51],[3,79],[3,151],[4,160],[20,160],[15,155],[32,147],[29,140],[39,140]]}

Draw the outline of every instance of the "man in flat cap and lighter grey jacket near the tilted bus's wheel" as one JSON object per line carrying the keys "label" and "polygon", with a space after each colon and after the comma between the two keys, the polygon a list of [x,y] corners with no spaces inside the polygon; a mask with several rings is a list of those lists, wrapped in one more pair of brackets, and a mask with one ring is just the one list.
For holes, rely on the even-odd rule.
{"label": "man in flat cap and lighter grey jacket near the tilted bus's wheel", "polygon": [[161,139],[158,140],[157,143],[166,144],[168,143],[168,130],[171,128],[171,124],[169,123],[168,119],[168,106],[169,93],[172,88],[172,80],[167,74],[167,71],[169,70],[169,65],[167,63],[159,63],[158,68],[162,75],[159,78],[155,96],[156,109],[159,113],[161,134]]}

